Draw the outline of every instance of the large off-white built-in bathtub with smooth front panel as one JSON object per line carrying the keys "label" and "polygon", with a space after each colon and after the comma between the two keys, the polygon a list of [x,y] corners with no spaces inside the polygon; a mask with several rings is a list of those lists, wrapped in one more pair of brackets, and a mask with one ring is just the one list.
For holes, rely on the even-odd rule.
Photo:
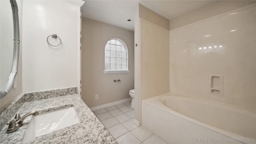
{"label": "large off-white built-in bathtub with smooth front panel", "polygon": [[169,144],[256,144],[256,113],[184,96],[142,101],[141,124]]}

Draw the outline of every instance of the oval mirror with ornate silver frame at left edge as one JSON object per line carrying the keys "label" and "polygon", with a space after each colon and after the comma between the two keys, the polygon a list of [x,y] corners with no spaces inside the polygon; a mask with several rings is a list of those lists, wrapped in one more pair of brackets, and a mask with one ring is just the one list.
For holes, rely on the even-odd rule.
{"label": "oval mirror with ornate silver frame at left edge", "polygon": [[20,32],[15,0],[0,0],[0,33],[0,98],[3,98],[18,72]]}

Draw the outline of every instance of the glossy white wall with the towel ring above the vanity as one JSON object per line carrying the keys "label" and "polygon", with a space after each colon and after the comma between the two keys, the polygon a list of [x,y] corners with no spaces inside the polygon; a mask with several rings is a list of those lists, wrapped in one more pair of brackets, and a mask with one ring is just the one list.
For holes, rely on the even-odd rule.
{"label": "glossy white wall with the towel ring above the vanity", "polygon": [[[23,92],[79,86],[80,6],[83,1],[69,2],[24,1]],[[47,44],[46,38],[51,34],[61,38],[60,46]]]}

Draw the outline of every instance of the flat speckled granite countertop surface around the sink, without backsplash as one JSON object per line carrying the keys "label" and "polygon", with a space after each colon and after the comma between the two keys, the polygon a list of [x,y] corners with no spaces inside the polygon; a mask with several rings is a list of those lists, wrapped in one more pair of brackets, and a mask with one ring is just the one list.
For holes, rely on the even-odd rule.
{"label": "flat speckled granite countertop surface around the sink, without backsplash", "polygon": [[41,100],[26,101],[20,110],[24,116],[28,112],[38,111],[39,114],[61,108],[74,106],[80,123],[66,128],[38,136],[35,139],[22,142],[24,132],[28,128],[32,116],[26,118],[17,131],[7,134],[8,126],[1,131],[1,144],[117,144],[116,140],[96,118],[90,108],[82,101],[78,94],[70,94]]}

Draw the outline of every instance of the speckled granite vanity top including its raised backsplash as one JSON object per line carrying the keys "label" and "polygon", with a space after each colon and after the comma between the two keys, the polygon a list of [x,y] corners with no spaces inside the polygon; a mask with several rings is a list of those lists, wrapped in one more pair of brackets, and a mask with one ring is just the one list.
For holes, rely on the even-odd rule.
{"label": "speckled granite vanity top including its raised backsplash", "polygon": [[[31,111],[37,111],[39,116],[40,114],[70,107],[76,111],[80,121],[77,124],[32,138],[31,140],[25,140],[24,135],[28,131],[28,126],[33,117],[28,116],[23,121],[23,126],[18,130],[6,133],[8,128],[6,122],[14,119],[15,113],[19,109],[20,116],[24,116]],[[11,104],[1,110],[1,129],[1,144],[117,144],[104,125],[79,97],[76,88],[21,94]]]}

